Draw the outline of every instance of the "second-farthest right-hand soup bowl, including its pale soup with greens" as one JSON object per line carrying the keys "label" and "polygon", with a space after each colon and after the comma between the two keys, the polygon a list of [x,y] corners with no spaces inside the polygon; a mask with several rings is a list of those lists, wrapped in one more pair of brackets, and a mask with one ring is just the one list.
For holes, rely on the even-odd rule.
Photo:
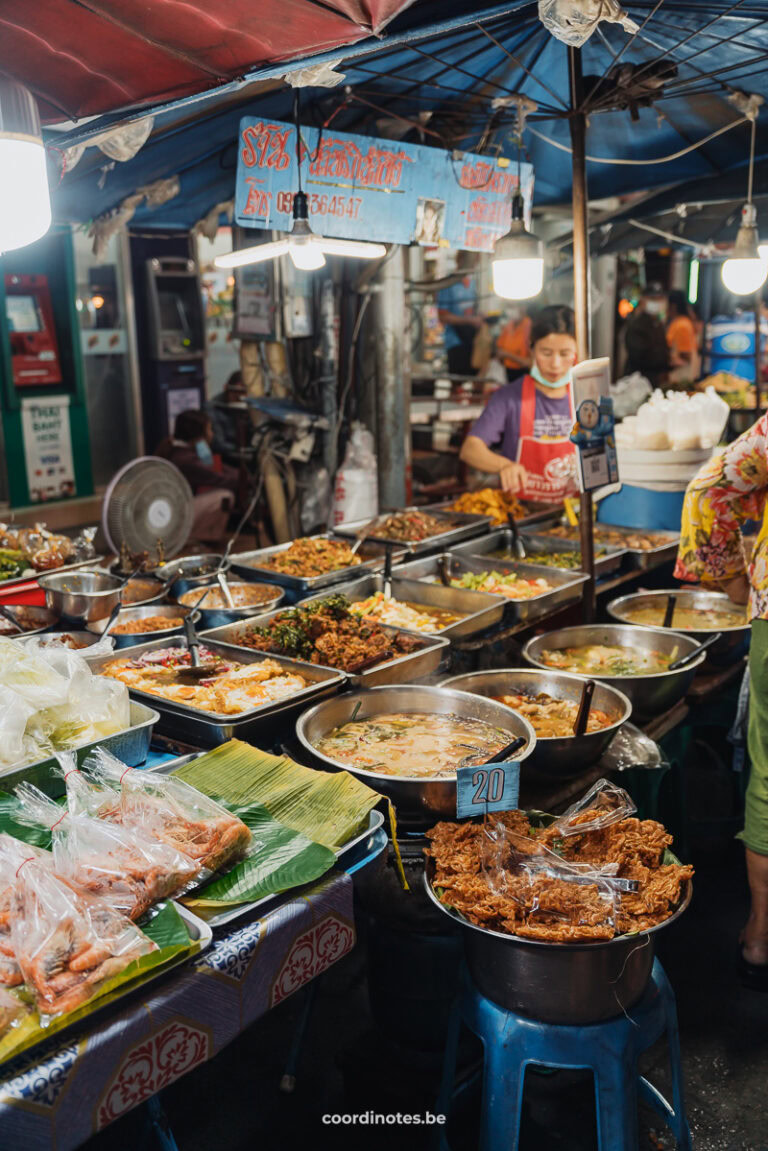
{"label": "second-farthest right-hand soup bowl, including its pale soup with greens", "polygon": [[649,719],[684,698],[707,653],[679,671],[669,668],[699,646],[691,635],[661,627],[588,624],[535,635],[523,657],[534,668],[610,684],[629,698],[636,718]]}

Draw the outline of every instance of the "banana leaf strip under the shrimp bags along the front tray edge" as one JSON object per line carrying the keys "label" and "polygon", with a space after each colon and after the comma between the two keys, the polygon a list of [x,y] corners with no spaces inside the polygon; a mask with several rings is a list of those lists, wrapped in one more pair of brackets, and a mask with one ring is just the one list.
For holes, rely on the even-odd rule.
{"label": "banana leaf strip under the shrimp bags along the front tray edge", "polygon": [[199,944],[190,937],[187,924],[172,902],[158,904],[139,925],[144,933],[157,943],[159,950],[149,955],[142,955],[129,963],[119,975],[106,980],[98,994],[89,999],[77,1011],[68,1012],[66,1015],[56,1015],[50,1022],[43,1023],[29,992],[23,989],[16,992],[29,1004],[30,1011],[16,1027],[9,1028],[0,1038],[0,1062],[14,1059],[29,1047],[33,1047],[36,1043],[48,1039],[71,1023],[76,1023],[94,1011],[114,1003],[127,991],[138,985],[146,976],[157,975],[165,967],[177,962],[180,958],[188,958],[199,951]]}

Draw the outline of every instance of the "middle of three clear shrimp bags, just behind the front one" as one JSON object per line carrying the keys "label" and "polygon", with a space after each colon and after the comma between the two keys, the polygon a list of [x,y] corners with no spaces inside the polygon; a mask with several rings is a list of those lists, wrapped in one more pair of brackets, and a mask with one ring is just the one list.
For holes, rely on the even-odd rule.
{"label": "middle of three clear shrimp bags, just behind the front one", "polygon": [[20,822],[51,828],[56,872],[130,920],[177,894],[200,870],[189,856],[140,828],[67,809],[62,815],[59,805],[33,784],[20,784],[15,793]]}

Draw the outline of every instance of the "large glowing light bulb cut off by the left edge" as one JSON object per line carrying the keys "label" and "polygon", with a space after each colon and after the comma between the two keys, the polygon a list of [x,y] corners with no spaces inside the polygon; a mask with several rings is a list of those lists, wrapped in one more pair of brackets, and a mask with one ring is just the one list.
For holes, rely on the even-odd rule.
{"label": "large glowing light bulb cut off by the left edge", "polygon": [[0,252],[24,247],[51,227],[51,195],[32,93],[0,78]]}

